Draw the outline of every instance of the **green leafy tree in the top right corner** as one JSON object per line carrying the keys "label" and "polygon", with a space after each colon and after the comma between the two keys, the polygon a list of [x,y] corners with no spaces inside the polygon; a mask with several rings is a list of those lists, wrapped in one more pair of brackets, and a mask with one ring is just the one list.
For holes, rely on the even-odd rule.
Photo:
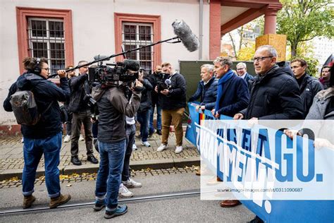
{"label": "green leafy tree in the top right corner", "polygon": [[283,8],[278,12],[278,34],[287,35],[291,57],[298,55],[300,42],[317,36],[334,36],[334,9],[332,0],[281,0]]}

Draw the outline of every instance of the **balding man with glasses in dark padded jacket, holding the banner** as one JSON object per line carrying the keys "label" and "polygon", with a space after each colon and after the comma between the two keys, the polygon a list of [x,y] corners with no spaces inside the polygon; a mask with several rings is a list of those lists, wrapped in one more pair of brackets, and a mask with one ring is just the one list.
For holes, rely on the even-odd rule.
{"label": "balding man with glasses in dark padded jacket, holding the banner", "polygon": [[302,119],[304,115],[299,87],[290,68],[276,65],[277,52],[270,45],[256,49],[254,68],[257,76],[250,80],[247,109],[234,119]]}

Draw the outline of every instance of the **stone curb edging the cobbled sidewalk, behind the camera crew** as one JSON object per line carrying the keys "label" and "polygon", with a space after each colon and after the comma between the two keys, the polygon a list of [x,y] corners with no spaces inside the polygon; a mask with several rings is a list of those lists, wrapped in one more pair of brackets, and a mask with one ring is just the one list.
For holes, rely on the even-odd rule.
{"label": "stone curb edging the cobbled sidewalk, behind the camera crew", "polygon": [[[192,165],[200,165],[199,157],[189,157],[187,159],[164,159],[159,160],[159,162],[152,162],[152,160],[141,160],[134,161],[130,164],[132,170],[142,170],[142,169],[168,169],[168,168],[180,168],[180,167],[191,167]],[[85,164],[82,166],[70,166],[61,167],[59,166],[59,174],[70,175],[70,174],[83,174],[83,173],[97,173],[99,170],[99,164]],[[18,177],[22,179],[23,169],[6,169],[0,173],[0,181],[8,180],[13,177]],[[44,168],[39,167],[36,171],[36,178],[44,176]]]}

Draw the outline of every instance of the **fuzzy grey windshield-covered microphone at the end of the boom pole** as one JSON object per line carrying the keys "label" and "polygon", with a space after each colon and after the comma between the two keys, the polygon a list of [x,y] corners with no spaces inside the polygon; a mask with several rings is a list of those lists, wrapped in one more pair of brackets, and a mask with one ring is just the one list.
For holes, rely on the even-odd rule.
{"label": "fuzzy grey windshield-covered microphone at the end of the boom pole", "polygon": [[192,33],[189,25],[185,23],[183,20],[175,20],[172,23],[174,28],[174,33],[177,35],[185,45],[188,51],[194,52],[199,47],[199,40],[196,35]]}

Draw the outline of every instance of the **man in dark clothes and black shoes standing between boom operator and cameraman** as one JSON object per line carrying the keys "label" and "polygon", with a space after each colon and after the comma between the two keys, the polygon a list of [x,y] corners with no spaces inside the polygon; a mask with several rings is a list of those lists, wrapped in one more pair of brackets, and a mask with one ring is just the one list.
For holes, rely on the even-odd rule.
{"label": "man in dark clothes and black shoes standing between boom operator and cameraman", "polygon": [[[87,64],[87,61],[79,61],[78,65]],[[89,93],[91,88],[88,84],[87,76],[88,67],[83,66],[79,68],[79,76],[70,79],[70,104],[68,110],[73,112],[72,119],[72,137],[70,142],[70,153],[72,162],[75,165],[81,165],[78,158],[79,152],[79,137],[81,125],[83,123],[85,128],[85,143],[87,149],[87,161],[92,164],[97,164],[98,161],[94,157],[93,152],[93,136],[92,136],[92,122],[90,121],[92,111],[89,107]]]}

